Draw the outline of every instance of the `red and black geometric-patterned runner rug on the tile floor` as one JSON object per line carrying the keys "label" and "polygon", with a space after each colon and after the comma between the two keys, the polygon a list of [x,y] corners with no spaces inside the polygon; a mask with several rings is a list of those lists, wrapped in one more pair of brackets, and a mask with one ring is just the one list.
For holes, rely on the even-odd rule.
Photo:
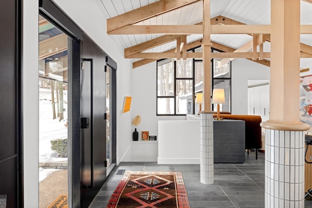
{"label": "red and black geometric-patterned runner rug on the tile floor", "polygon": [[106,208],[190,208],[181,172],[126,171]]}

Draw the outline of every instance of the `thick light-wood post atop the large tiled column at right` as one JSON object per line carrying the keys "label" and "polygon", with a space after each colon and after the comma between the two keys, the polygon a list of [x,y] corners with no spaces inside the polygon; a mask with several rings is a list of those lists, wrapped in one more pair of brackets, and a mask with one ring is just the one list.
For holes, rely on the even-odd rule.
{"label": "thick light-wood post atop the large tiled column at right", "polygon": [[[270,118],[299,123],[300,1],[271,1]],[[302,32],[302,31],[301,31]]]}

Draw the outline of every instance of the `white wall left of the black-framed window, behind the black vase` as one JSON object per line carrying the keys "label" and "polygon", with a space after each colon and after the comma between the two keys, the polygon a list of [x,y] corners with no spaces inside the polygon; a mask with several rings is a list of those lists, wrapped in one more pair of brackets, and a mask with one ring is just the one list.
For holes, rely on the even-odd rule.
{"label": "white wall left of the black-framed window, behind the black vase", "polygon": [[[156,116],[156,61],[132,69],[132,101],[131,109],[128,112],[133,120],[137,115],[141,117],[141,123],[137,126],[139,140],[141,131],[149,131],[149,135],[158,137],[158,120],[185,120],[185,116]],[[131,124],[132,120],[129,122]],[[135,126],[132,126],[132,132]],[[132,140],[132,132],[126,135],[128,140]],[[142,156],[137,155],[137,147],[142,144],[133,142],[125,152],[122,161],[157,161],[157,147],[155,142],[144,141],[145,148],[150,151],[142,151]]]}

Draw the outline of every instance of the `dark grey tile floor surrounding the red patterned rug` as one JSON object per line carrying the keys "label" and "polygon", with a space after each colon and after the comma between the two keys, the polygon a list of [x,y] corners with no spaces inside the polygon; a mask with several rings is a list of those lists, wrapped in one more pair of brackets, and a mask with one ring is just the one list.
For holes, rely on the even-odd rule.
{"label": "dark grey tile floor surrounding the red patterned rug", "polygon": [[[118,170],[180,171],[191,208],[264,208],[264,153],[246,153],[243,164],[215,164],[215,183],[200,183],[199,165],[122,162],[115,168],[89,208],[105,208],[122,175]],[[312,201],[305,201],[312,208]]]}

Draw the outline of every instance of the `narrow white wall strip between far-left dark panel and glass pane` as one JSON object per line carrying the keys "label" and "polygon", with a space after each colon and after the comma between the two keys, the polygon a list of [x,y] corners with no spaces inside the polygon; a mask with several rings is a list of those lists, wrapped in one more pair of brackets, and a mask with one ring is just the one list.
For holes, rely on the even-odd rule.
{"label": "narrow white wall strip between far-left dark panel and glass pane", "polygon": [[27,0],[23,4],[24,208],[39,207],[38,5],[38,0]]}

